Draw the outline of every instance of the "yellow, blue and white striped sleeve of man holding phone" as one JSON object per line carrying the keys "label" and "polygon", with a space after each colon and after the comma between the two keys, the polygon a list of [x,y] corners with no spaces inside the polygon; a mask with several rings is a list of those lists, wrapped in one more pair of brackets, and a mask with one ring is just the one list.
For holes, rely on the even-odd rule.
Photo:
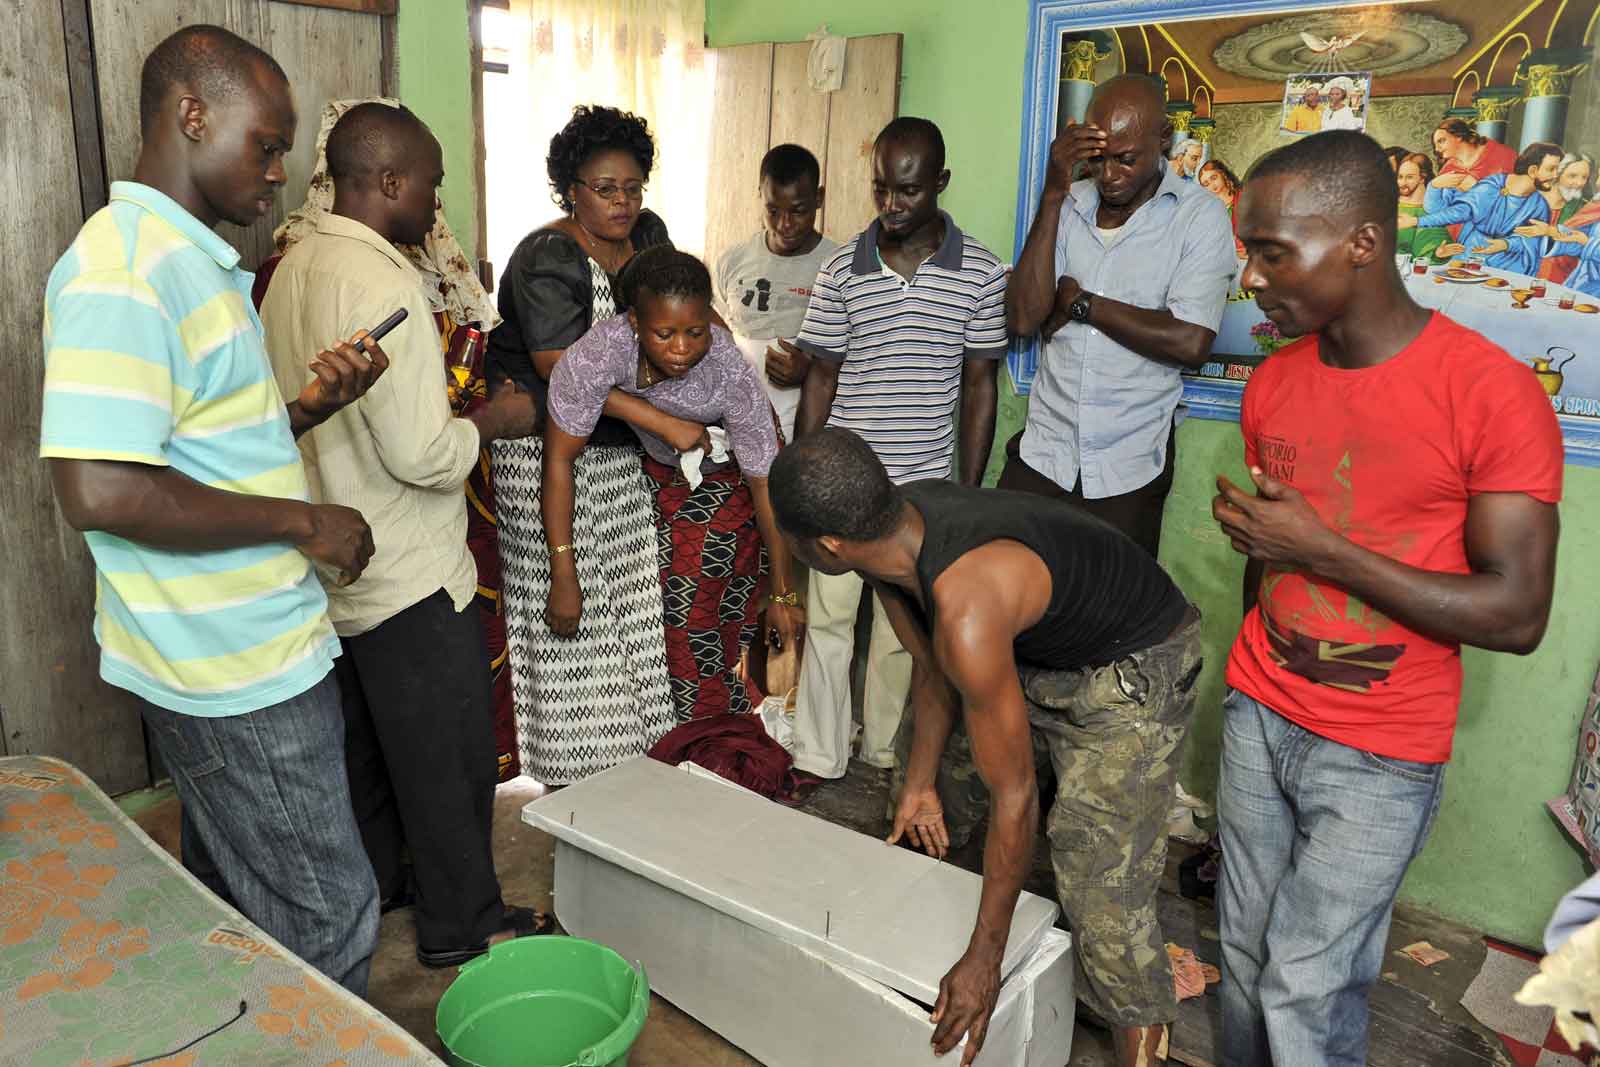
{"label": "yellow, blue and white striped sleeve of man holding phone", "polygon": [[166,466],[189,397],[173,339],[155,290],[131,270],[61,285],[46,299],[40,456]]}

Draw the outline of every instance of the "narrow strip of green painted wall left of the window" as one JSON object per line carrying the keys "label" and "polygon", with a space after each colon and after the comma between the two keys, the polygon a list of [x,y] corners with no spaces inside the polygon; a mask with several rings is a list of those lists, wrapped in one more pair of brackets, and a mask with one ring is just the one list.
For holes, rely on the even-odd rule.
{"label": "narrow strip of green painted wall left of the window", "polygon": [[410,0],[395,27],[400,101],[422,117],[445,150],[445,218],[477,256],[478,194],[472,152],[472,35],[467,0]]}

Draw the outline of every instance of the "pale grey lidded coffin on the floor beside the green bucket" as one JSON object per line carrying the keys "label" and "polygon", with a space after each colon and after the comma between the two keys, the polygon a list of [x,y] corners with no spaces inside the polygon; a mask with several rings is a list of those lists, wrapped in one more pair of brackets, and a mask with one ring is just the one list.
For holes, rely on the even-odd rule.
{"label": "pale grey lidded coffin on the floor beside the green bucket", "polygon": [[[638,960],[651,987],[766,1067],[960,1062],[928,1008],[960,958],[981,880],[845,827],[635,760],[523,809],[555,835],[555,910]],[[1061,1067],[1072,955],[1056,905],[1022,894],[984,1067]]]}

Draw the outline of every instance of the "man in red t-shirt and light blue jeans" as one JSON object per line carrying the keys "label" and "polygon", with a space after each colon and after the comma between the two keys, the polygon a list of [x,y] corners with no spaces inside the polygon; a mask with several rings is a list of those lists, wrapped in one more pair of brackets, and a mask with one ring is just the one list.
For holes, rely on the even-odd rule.
{"label": "man in red t-shirt and light blue jeans", "polygon": [[1322,133],[1238,203],[1240,285],[1288,336],[1218,478],[1245,568],[1219,785],[1222,1059],[1365,1064],[1366,993],[1422,848],[1461,645],[1530,653],[1555,584],[1562,437],[1528,368],[1406,294],[1382,149]]}

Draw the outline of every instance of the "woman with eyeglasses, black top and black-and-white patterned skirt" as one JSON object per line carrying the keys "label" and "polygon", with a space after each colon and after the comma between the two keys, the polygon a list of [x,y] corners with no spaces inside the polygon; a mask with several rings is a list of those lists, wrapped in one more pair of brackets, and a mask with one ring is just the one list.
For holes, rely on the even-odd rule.
{"label": "woman with eyeglasses, black top and black-and-white patterned skirt", "polygon": [[[635,253],[670,243],[643,210],[656,158],[650,128],[614,107],[579,106],[550,139],[562,218],[528,234],[501,277],[504,322],[490,334],[490,382],[515,381],[542,405],[566,347],[626,310],[616,278]],[[539,518],[544,445],[496,442],[502,609],[523,773],[574,782],[642,755],[674,725],[651,488],[627,424],[688,451],[706,429],[613,389],[574,464],[573,536],[549,544]],[[584,592],[571,637],[550,625],[552,576]],[[565,627],[563,627],[565,629]]]}

